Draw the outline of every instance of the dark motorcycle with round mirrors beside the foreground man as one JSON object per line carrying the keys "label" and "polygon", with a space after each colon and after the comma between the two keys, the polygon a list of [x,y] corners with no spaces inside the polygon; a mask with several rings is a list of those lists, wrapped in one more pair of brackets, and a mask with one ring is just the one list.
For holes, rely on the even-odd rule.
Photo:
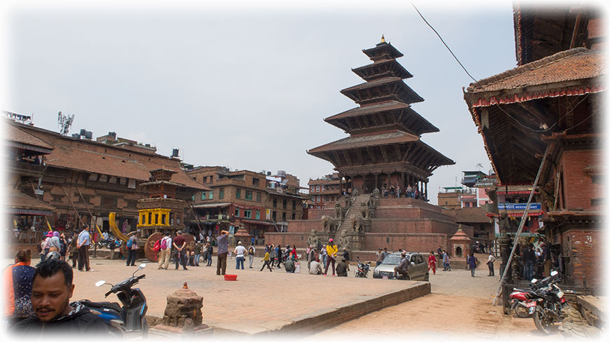
{"label": "dark motorcycle with round mirrors beside the foreground man", "polygon": [[148,309],[146,297],[140,289],[132,288],[140,279],[146,278],[146,275],[144,274],[135,276],[135,273],[143,268],[146,268],[146,264],[137,266],[137,270],[134,271],[130,278],[123,280],[116,285],[112,285],[104,280],[95,283],[95,286],[97,287],[110,285],[110,291],[104,296],[107,297],[112,293],[116,294],[118,300],[123,304],[122,307],[118,303],[111,303],[108,301],[81,301],[81,303],[87,306],[93,313],[100,315],[109,327],[111,327],[111,331],[117,336],[123,336],[128,333],[141,333],[145,337],[148,334],[148,324],[145,319],[146,311]]}

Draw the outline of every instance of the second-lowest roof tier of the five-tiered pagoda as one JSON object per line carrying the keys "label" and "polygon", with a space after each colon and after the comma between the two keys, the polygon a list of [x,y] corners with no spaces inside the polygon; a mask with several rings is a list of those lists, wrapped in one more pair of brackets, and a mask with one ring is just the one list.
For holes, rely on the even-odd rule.
{"label": "second-lowest roof tier of the five-tiered pagoda", "polygon": [[356,107],[325,118],[324,121],[352,134],[380,128],[404,130],[418,136],[439,131],[433,124],[411,109],[409,104],[395,100]]}

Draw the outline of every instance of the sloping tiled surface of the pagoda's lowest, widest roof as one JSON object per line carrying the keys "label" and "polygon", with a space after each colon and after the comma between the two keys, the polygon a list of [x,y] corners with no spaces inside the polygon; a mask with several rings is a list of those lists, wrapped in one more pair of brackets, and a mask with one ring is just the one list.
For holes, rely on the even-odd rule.
{"label": "sloping tiled surface of the pagoda's lowest, widest roof", "polygon": [[379,145],[390,145],[405,142],[416,142],[419,137],[402,132],[400,130],[394,132],[387,132],[375,135],[361,135],[357,137],[346,137],[339,139],[335,142],[330,142],[322,146],[318,146],[315,149],[309,150],[307,153],[318,153],[325,151],[343,150],[343,149],[354,149],[358,147],[367,146],[379,146]]}

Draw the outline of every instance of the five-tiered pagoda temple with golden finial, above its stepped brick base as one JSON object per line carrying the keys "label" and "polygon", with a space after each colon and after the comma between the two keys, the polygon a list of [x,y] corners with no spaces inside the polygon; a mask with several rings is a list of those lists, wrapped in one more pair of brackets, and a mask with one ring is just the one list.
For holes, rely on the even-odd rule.
{"label": "five-tiered pagoda temple with golden finial, above its stepped brick base", "polygon": [[345,179],[341,189],[348,192],[411,185],[427,198],[428,177],[439,166],[455,162],[421,142],[421,134],[439,130],[411,108],[423,99],[402,81],[412,77],[396,61],[402,53],[383,36],[377,46],[362,52],[373,63],[352,71],[365,83],[341,90],[360,107],[325,118],[350,136],[307,153],[330,161]]}

